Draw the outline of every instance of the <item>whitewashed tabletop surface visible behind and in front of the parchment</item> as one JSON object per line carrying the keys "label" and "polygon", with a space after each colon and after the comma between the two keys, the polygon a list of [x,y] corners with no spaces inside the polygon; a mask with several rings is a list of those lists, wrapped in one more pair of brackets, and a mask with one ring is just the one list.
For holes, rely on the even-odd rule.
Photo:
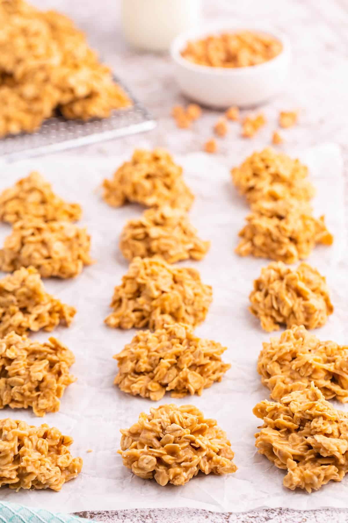
{"label": "whitewashed tabletop surface visible behind and in front of the parchment", "polygon": [[[189,0],[188,0],[189,1]],[[91,44],[102,59],[151,110],[158,120],[155,130],[122,140],[84,147],[86,154],[131,153],[134,147],[164,146],[172,153],[188,153],[202,149],[211,137],[218,112],[205,110],[191,130],[178,130],[170,111],[173,105],[184,103],[178,92],[169,56],[137,53],[127,48],[119,28],[118,0],[33,0],[43,8],[52,7],[74,18],[88,34]],[[231,166],[253,150],[270,143],[277,127],[281,109],[298,109],[299,124],[282,132],[282,149],[292,152],[323,142],[341,145],[347,172],[348,160],[348,1],[347,0],[203,0],[207,21],[236,21],[274,27],[283,32],[293,48],[293,64],[284,92],[262,107],[267,126],[253,140],[243,140],[237,124],[225,139],[219,141],[219,153],[231,158]],[[66,153],[65,153],[66,154]],[[70,154],[75,154],[71,152]],[[348,189],[348,178],[346,189]],[[348,191],[346,190],[345,198]],[[348,204],[346,206],[348,209]],[[346,214],[347,218],[347,214]],[[115,493],[116,495],[116,493]],[[347,521],[348,511],[319,510],[296,513],[284,509],[253,511],[248,515],[213,514],[199,510],[139,510],[113,513],[81,513],[99,521]]]}

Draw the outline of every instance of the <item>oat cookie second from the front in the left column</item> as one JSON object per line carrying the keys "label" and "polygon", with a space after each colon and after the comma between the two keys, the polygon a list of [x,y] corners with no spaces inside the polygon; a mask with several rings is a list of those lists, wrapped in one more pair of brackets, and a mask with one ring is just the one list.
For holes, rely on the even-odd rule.
{"label": "oat cookie second from the front in the left column", "polygon": [[0,339],[0,408],[31,407],[36,416],[57,412],[59,399],[76,378],[75,356],[56,338],[39,343],[15,332]]}

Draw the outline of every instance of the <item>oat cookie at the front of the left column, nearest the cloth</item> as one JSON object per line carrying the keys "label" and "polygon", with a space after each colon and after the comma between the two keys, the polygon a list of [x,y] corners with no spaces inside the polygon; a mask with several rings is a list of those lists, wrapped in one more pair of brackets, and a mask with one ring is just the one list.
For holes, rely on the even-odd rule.
{"label": "oat cookie at the front of the left column, nearest the cloth", "polygon": [[2,474],[0,486],[51,488],[60,491],[78,476],[82,458],[73,458],[74,440],[47,424],[34,427],[18,419],[0,419]]}

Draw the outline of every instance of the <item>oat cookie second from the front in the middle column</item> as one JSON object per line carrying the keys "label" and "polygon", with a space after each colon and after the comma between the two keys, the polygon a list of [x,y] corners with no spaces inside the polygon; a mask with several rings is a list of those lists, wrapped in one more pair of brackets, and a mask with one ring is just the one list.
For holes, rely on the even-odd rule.
{"label": "oat cookie second from the front in the middle column", "polygon": [[130,344],[114,356],[118,363],[115,384],[123,392],[161,400],[201,395],[231,367],[221,355],[226,347],[198,338],[184,323],[164,325],[155,332],[139,331]]}

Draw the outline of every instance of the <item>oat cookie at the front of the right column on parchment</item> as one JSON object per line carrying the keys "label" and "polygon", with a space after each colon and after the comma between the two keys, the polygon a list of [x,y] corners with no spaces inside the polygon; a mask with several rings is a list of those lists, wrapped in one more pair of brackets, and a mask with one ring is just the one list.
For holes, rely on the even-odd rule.
{"label": "oat cookie at the front of the right column on parchment", "polygon": [[326,401],[313,382],[279,403],[261,401],[253,412],[263,419],[255,434],[257,450],[287,470],[284,486],[310,493],[343,479],[348,471],[348,414]]}

